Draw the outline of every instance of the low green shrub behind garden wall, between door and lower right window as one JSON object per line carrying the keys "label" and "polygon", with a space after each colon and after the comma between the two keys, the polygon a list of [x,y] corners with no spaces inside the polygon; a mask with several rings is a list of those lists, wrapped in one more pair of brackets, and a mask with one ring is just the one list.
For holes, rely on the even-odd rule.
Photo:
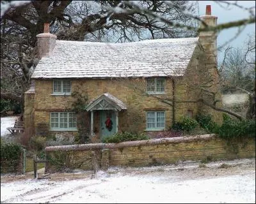
{"label": "low green shrub behind garden wall, between door and lower right window", "polygon": [[126,141],[136,141],[136,140],[148,140],[148,136],[141,133],[116,133],[115,135],[106,137],[103,139],[103,143],[118,143],[118,142],[126,142]]}

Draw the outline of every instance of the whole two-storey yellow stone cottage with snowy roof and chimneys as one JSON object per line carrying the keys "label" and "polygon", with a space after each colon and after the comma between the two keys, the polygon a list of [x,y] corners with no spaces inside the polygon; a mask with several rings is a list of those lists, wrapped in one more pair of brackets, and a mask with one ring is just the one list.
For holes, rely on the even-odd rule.
{"label": "whole two-storey yellow stone cottage with snowy roof and chimneys", "polygon": [[[211,6],[201,19],[216,25]],[[99,43],[57,40],[44,26],[36,36],[40,61],[25,93],[27,134],[77,136],[82,129],[91,142],[100,142],[122,131],[154,136],[198,112],[220,120],[199,100],[217,96],[211,94],[218,91],[213,31],[196,38]]]}

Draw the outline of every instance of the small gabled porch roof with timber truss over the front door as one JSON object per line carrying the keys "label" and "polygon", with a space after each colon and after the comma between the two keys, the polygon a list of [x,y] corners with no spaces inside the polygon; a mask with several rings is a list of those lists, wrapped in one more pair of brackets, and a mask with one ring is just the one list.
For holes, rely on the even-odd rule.
{"label": "small gabled porch roof with timber truss over the front door", "polygon": [[91,101],[85,108],[86,111],[92,110],[126,110],[125,104],[111,94],[104,93]]}

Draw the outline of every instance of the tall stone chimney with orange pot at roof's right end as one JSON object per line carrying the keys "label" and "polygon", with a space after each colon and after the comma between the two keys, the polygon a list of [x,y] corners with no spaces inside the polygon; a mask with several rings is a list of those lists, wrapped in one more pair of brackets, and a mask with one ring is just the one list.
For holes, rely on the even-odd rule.
{"label": "tall stone chimney with orange pot at roof's right end", "polygon": [[[206,25],[216,26],[216,16],[211,15],[211,5],[207,5],[205,8],[205,15],[200,19],[205,22]],[[204,29],[205,25],[201,22],[200,29]],[[217,66],[217,34],[215,31],[201,31],[199,34],[199,41],[204,47],[205,54],[207,55],[207,64],[209,66]]]}

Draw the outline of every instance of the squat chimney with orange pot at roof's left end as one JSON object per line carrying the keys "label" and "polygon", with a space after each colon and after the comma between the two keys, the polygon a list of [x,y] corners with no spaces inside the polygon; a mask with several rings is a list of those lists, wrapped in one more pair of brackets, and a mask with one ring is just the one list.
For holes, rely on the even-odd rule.
{"label": "squat chimney with orange pot at roof's left end", "polygon": [[44,33],[36,35],[38,58],[49,57],[56,44],[57,36],[50,33],[50,24],[44,24]]}

